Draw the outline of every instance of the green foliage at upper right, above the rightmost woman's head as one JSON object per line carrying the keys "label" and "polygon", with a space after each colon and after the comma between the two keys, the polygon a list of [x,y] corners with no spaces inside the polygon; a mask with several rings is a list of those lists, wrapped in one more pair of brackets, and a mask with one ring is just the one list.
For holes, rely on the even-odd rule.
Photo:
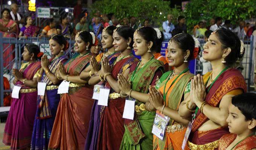
{"label": "green foliage at upper right, above the rightmost woman's head", "polygon": [[[184,14],[189,28],[199,21],[222,17],[236,24],[240,20],[250,19],[256,15],[256,0],[191,0],[187,3]],[[208,24],[209,25],[209,24]]]}

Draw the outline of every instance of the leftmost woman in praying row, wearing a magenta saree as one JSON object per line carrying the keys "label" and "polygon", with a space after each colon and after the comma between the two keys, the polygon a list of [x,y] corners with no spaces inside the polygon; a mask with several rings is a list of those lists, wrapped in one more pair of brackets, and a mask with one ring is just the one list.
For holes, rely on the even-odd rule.
{"label": "leftmost woman in praying row, wearing a magenta saree", "polygon": [[36,61],[40,49],[37,45],[25,46],[23,59],[27,63],[20,70],[14,69],[14,85],[21,86],[19,98],[12,98],[11,109],[5,124],[3,143],[12,150],[30,148],[34,117],[37,110],[37,71],[41,63]]}

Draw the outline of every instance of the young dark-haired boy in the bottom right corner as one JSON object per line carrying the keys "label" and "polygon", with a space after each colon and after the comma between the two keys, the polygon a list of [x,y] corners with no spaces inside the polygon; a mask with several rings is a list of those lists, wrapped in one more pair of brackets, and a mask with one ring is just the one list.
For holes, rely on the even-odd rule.
{"label": "young dark-haired boy in the bottom right corner", "polygon": [[234,96],[227,123],[230,134],[219,139],[219,150],[256,150],[256,94]]}

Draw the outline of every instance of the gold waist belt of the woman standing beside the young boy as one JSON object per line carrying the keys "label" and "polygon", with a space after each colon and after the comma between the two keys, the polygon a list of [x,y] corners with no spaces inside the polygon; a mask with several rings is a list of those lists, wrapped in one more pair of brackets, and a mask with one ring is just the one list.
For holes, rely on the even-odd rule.
{"label": "gold waist belt of the woman standing beside the young boy", "polygon": [[187,141],[190,150],[214,150],[219,146],[219,140],[204,144],[204,145],[196,145],[192,142]]}

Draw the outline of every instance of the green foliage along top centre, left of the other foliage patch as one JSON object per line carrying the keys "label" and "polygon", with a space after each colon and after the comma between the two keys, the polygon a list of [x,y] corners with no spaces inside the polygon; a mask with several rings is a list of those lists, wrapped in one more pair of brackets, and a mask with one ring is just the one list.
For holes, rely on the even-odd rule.
{"label": "green foliage along top centre, left of the other foliage patch", "polygon": [[92,14],[97,10],[102,14],[114,13],[119,20],[134,16],[141,22],[149,19],[151,24],[162,26],[162,22],[167,20],[164,17],[167,17],[168,13],[173,14],[174,18],[181,13],[169,6],[169,1],[162,0],[98,0],[92,5]]}

